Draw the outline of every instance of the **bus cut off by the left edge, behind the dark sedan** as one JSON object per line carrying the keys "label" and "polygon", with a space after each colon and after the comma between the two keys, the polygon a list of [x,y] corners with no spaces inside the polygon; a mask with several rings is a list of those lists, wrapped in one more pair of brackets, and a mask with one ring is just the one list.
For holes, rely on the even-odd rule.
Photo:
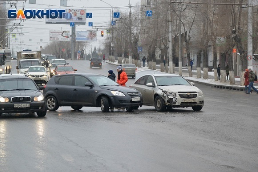
{"label": "bus cut off by the left edge, behind the dark sedan", "polygon": [[12,72],[12,57],[10,49],[0,48],[0,75]]}

